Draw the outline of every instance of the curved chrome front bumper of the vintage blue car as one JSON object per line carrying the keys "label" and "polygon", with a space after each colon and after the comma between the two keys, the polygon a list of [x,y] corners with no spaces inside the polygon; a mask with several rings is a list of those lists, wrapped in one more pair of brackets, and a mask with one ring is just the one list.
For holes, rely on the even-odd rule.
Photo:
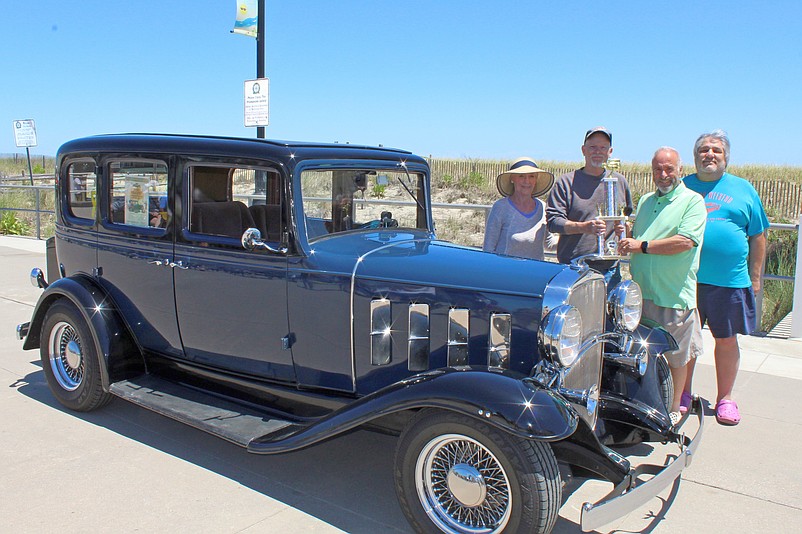
{"label": "curved chrome front bumper of the vintage blue car", "polygon": [[[704,428],[704,409],[698,396],[694,397],[690,409],[678,426],[684,424],[690,415],[696,415],[699,418],[699,430],[692,439],[684,434],[680,435],[682,452],[667,465],[645,464],[634,468],[629,476],[599,502],[584,503],[580,519],[583,532],[596,530],[646,504],[679,478],[683,469],[691,465],[693,455],[702,441]],[[638,478],[645,474],[654,476],[645,482],[638,483]]]}

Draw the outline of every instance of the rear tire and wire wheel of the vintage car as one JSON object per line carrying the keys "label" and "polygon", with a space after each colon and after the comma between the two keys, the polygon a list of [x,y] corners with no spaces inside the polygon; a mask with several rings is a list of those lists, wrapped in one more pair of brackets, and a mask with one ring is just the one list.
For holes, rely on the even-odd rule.
{"label": "rear tire and wire wheel of the vintage car", "polygon": [[95,340],[80,311],[60,300],[47,310],[39,353],[47,385],[71,410],[88,412],[111,400],[103,391]]}

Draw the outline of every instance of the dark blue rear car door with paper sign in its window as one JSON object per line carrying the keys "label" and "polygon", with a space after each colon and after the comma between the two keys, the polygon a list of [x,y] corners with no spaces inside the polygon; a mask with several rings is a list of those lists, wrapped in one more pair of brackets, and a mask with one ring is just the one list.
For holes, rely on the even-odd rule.
{"label": "dark blue rear car door with paper sign in its window", "polygon": [[174,158],[102,161],[97,279],[146,351],[182,357],[173,300]]}

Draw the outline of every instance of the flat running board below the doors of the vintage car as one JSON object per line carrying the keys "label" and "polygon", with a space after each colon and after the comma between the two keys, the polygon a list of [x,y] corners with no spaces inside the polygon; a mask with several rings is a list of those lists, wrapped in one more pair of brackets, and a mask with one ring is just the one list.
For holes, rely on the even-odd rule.
{"label": "flat running board below the doors of the vintage car", "polygon": [[256,410],[152,375],[111,384],[122,399],[185,423],[227,441],[247,447],[254,438],[292,434],[302,428],[291,421],[271,418]]}

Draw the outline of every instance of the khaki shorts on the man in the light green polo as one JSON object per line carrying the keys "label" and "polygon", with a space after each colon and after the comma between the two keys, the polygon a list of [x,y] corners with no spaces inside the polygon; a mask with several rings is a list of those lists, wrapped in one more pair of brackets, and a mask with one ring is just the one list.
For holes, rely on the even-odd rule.
{"label": "khaki shorts on the man in the light green polo", "polygon": [[644,299],[643,317],[660,323],[677,340],[679,349],[664,354],[669,367],[674,369],[682,367],[691,361],[691,358],[696,358],[704,352],[702,322],[699,320],[696,308],[692,310],[663,308],[651,300]]}

